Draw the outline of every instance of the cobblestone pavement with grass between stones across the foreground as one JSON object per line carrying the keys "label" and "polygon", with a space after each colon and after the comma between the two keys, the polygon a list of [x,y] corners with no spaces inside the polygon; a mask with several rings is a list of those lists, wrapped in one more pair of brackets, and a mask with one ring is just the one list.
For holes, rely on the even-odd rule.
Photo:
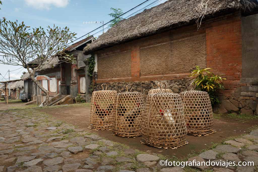
{"label": "cobblestone pavement with grass between stones across the foreground", "polygon": [[[183,147],[179,149],[183,151]],[[257,166],[257,150],[258,129],[214,146],[212,150],[202,151],[188,161],[254,161],[254,165]],[[181,168],[159,165],[159,162],[165,159],[162,155],[146,154],[106,140],[47,114],[37,113],[36,110],[0,113],[0,172],[256,170],[255,166]],[[175,159],[174,157],[169,160]]]}

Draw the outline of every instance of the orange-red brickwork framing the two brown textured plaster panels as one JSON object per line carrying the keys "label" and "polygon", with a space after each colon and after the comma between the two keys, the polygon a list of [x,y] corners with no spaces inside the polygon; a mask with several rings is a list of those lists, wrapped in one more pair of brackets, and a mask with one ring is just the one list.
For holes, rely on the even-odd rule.
{"label": "orange-red brickwork framing the two brown textured plaster panels", "polygon": [[[241,87],[247,86],[248,83],[240,82],[242,78],[242,37],[241,37],[241,15],[239,13],[229,14],[206,20],[201,25],[201,28],[197,30],[196,24],[193,26],[187,26],[184,28],[174,29],[162,34],[156,34],[146,38],[134,40],[129,43],[121,44],[112,48],[101,50],[101,53],[106,54],[114,51],[131,50],[131,77],[120,78],[103,78],[96,80],[96,83],[110,83],[124,82],[126,85],[128,82],[146,82],[146,81],[166,81],[169,83],[171,80],[183,80],[189,78],[191,68],[186,71],[166,73],[156,73],[155,75],[142,76],[141,69],[141,47],[151,47],[152,45],[160,45],[167,42],[171,42],[176,39],[184,39],[195,35],[206,34],[206,67],[212,68],[215,74],[223,75],[227,80],[223,81],[225,90],[221,91],[220,100],[222,104],[216,108],[217,112],[229,112],[239,111],[243,109],[244,105],[241,101],[245,98],[240,95]],[[161,54],[162,55],[162,54]],[[99,55],[98,55],[99,56]],[[161,58],[160,56],[157,58]],[[180,57],[179,57],[180,58]],[[183,59],[182,59],[183,60]],[[189,62],[189,61],[188,61]],[[156,64],[160,65],[160,64]],[[173,65],[173,64],[171,64]],[[189,83],[189,82],[188,82]],[[185,85],[186,83],[184,83]],[[170,85],[171,87],[174,85]],[[186,88],[186,87],[184,87]],[[171,88],[173,89],[173,88]],[[181,91],[181,90],[180,90]],[[248,97],[250,99],[250,97]],[[255,95],[251,98],[252,101],[256,101]],[[242,101],[243,102],[243,101]],[[246,102],[245,102],[246,104]],[[257,102],[256,102],[257,104]],[[241,109],[241,112],[242,112]],[[245,106],[245,109],[251,109],[249,105]],[[256,113],[253,109],[248,113]]]}

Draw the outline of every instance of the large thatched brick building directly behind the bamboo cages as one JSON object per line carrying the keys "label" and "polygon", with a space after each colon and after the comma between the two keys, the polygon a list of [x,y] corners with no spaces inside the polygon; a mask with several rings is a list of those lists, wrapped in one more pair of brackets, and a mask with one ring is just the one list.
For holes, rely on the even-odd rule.
{"label": "large thatched brick building directly behind the bamboo cages", "polygon": [[168,0],[124,19],[84,48],[95,56],[96,87],[136,87],[146,96],[158,82],[186,91],[196,65],[224,75],[220,112],[254,114],[257,105],[258,2]]}

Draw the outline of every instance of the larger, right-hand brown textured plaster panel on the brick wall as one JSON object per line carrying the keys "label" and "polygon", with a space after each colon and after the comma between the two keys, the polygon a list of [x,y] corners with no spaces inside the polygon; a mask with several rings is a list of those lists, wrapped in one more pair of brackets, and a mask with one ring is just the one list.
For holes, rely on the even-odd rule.
{"label": "larger, right-hand brown textured plaster panel on the brick wall", "polygon": [[140,50],[141,76],[191,71],[206,67],[206,35],[173,40]]}

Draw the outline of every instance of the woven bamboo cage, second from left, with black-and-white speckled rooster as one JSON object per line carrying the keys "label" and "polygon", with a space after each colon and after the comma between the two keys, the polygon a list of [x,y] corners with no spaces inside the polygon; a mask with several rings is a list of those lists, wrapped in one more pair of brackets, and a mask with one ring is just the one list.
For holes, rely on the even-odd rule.
{"label": "woven bamboo cage, second from left, with black-and-white speckled rooster", "polygon": [[113,132],[120,137],[141,136],[142,116],[144,111],[143,94],[139,92],[119,93],[116,100]]}

